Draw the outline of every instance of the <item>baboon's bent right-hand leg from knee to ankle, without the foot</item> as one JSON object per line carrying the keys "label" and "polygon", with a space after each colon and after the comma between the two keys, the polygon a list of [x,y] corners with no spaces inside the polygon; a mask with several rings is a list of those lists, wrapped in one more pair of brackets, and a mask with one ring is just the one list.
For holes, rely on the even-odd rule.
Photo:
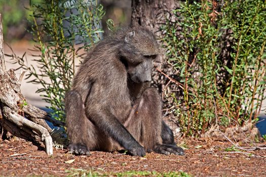
{"label": "baboon's bent right-hand leg from knee to ankle, without the foot", "polygon": [[126,128],[135,139],[150,151],[162,144],[162,102],[155,88],[146,89],[133,105],[125,122]]}

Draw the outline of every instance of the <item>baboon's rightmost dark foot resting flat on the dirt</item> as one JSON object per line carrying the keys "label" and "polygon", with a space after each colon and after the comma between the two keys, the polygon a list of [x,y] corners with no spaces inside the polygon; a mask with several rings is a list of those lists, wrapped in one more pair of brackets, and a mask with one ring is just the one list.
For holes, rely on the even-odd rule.
{"label": "baboon's rightmost dark foot resting flat on the dirt", "polygon": [[175,145],[157,145],[154,148],[154,151],[159,154],[175,154],[175,155],[184,155],[184,150],[178,146]]}

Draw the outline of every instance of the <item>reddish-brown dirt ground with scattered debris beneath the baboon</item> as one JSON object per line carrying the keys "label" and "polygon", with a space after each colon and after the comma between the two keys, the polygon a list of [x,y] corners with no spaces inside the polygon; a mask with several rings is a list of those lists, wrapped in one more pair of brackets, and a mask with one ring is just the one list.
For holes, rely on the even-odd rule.
{"label": "reddish-brown dirt ground with scattered debris beneath the baboon", "polygon": [[229,142],[211,140],[182,143],[186,147],[184,156],[148,153],[133,157],[118,152],[73,156],[62,149],[54,149],[54,155],[47,156],[30,142],[5,140],[0,141],[0,176],[73,176],[82,175],[73,173],[82,169],[100,174],[135,170],[183,171],[192,176],[266,176],[266,150],[236,151]]}

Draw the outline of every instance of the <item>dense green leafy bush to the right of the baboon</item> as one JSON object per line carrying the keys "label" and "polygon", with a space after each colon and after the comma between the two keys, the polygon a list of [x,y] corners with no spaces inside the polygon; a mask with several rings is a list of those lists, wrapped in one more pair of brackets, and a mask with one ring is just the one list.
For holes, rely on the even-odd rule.
{"label": "dense green leafy bush to the right of the baboon", "polygon": [[[183,134],[252,121],[265,99],[265,1],[181,4],[162,26],[180,82],[175,113]],[[233,120],[233,121],[232,121]]]}

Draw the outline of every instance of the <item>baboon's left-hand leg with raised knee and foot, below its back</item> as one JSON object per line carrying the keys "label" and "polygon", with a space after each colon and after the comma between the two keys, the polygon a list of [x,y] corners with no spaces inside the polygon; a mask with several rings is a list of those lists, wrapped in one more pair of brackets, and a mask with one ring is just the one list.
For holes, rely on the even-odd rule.
{"label": "baboon's left-hand leg with raised knee and foot, below its back", "polygon": [[67,134],[70,139],[69,151],[89,155],[90,149],[98,146],[97,128],[86,117],[81,95],[69,91],[65,96]]}

